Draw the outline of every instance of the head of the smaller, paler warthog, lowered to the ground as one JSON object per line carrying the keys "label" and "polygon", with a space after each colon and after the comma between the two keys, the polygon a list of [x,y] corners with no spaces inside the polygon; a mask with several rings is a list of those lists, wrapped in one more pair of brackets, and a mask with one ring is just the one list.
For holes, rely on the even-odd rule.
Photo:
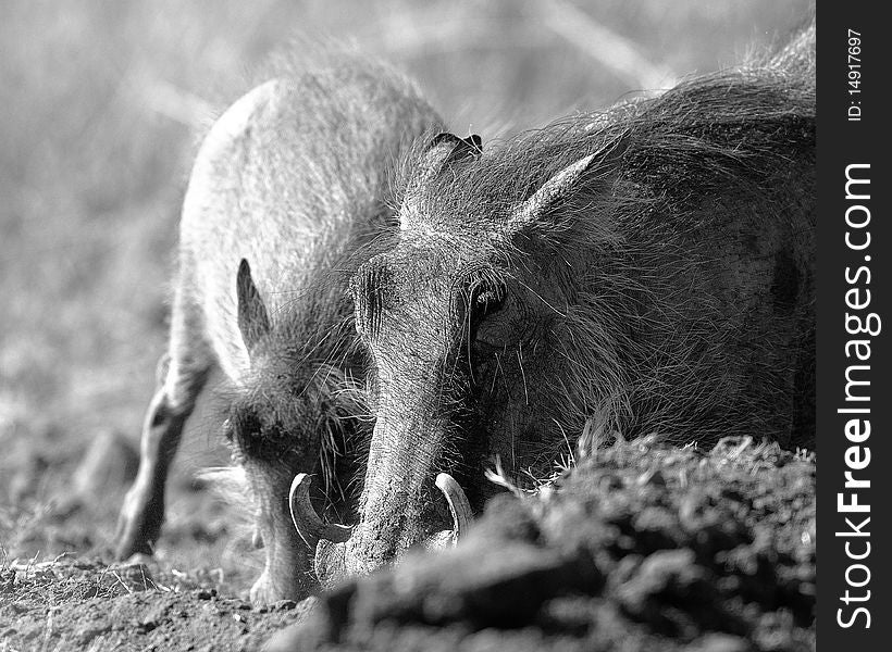
{"label": "head of the smaller, paler warthog, lowered to the ground", "polygon": [[[348,375],[355,337],[347,315],[337,312],[343,302],[329,297],[301,297],[306,314],[276,315],[277,323],[271,324],[246,261],[238,271],[237,293],[238,326],[251,368],[230,397],[225,434],[245,480],[240,498],[253,512],[253,542],[265,549],[265,567],[251,601],[297,600],[317,584],[315,540],[308,541],[306,527],[303,535],[296,530],[289,488],[296,475],[315,474],[320,479],[312,502],[323,514],[345,497],[342,480],[352,474],[344,456],[346,440],[358,424],[352,417],[367,410]],[[301,486],[301,504],[310,504],[308,486]],[[326,536],[337,539],[335,532],[326,530]]]}

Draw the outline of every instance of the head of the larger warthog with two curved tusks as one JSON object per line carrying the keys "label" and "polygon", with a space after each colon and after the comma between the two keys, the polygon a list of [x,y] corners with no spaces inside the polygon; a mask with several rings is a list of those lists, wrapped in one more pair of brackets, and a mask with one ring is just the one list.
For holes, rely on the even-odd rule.
{"label": "head of the larger warthog with two curved tusks", "polygon": [[468,503],[480,509],[495,489],[483,474],[494,457],[542,471],[566,451],[552,437],[566,423],[553,380],[580,360],[566,328],[584,261],[556,256],[537,226],[596,156],[541,164],[525,193],[509,183],[504,196],[473,197],[454,174],[472,184],[481,155],[475,136],[448,134],[418,153],[398,241],[354,275],[376,422],[352,536],[319,544],[323,580],[454,539]]}

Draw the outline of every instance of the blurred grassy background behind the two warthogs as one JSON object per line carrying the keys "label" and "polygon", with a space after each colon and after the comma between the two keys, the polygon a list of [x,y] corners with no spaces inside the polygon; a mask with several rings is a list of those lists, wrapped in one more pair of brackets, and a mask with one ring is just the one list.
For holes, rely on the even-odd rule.
{"label": "blurred grassy background behind the two warthogs", "polygon": [[[120,482],[79,527],[64,514],[58,527],[47,525],[53,498],[69,490],[77,460],[100,432],[137,440],[164,348],[195,135],[292,36],[347,39],[396,63],[457,133],[473,129],[486,140],[492,125],[534,127],[731,65],[795,26],[809,5],[2,2],[0,553],[101,551],[111,536]],[[177,523],[188,522],[178,543],[196,550],[225,530],[224,512],[215,513],[224,522],[216,530],[202,529],[184,514],[205,513],[188,497],[176,499],[181,489],[188,493],[194,468],[221,460],[212,424],[193,430],[174,482],[165,539],[172,555],[181,553]]]}

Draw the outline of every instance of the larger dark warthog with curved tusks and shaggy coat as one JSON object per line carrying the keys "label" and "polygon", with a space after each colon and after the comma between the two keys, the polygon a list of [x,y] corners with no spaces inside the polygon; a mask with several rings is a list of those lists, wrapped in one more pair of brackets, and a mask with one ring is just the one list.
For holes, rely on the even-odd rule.
{"label": "larger dark warthog with curved tusks and shaggy coat", "polygon": [[318,544],[323,580],[460,527],[495,455],[518,481],[580,434],[583,452],[813,441],[813,62],[814,26],[604,114],[413,148],[398,227],[351,280],[376,423],[352,535]]}

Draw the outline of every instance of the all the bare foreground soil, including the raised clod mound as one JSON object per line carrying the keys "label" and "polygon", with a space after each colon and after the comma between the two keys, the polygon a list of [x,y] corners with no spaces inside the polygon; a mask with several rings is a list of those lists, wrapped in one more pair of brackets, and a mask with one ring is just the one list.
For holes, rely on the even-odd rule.
{"label": "all the bare foreground soil, including the raised clod mound", "polygon": [[749,438],[619,441],[456,549],[298,604],[153,562],[0,563],[0,649],[814,650],[815,474]]}

